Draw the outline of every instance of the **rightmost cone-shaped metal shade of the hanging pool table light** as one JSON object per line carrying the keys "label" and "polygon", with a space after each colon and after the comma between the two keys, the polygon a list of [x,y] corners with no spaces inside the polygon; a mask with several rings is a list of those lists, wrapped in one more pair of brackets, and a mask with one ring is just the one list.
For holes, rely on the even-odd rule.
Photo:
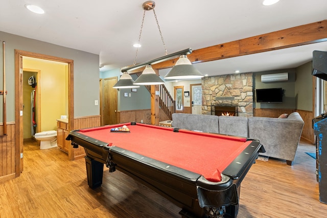
{"label": "rightmost cone-shaped metal shade of the hanging pool table light", "polygon": [[196,69],[186,55],[181,55],[175,66],[164,77],[165,79],[183,80],[198,79],[204,77],[201,72]]}

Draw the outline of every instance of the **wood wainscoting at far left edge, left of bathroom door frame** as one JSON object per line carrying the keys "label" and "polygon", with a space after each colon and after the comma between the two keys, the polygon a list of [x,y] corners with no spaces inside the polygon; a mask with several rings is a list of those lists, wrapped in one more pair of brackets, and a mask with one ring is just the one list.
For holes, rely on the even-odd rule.
{"label": "wood wainscoting at far left edge, left of bathroom door frame", "polygon": [[0,182],[15,178],[15,124],[7,123],[7,135],[3,136],[0,124]]}

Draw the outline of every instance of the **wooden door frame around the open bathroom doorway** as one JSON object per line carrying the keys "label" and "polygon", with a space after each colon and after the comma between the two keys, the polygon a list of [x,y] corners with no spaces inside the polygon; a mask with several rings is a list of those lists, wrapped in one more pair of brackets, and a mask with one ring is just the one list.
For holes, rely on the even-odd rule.
{"label": "wooden door frame around the open bathroom doorway", "polygon": [[[63,62],[68,64],[68,129],[74,129],[74,61],[50,55],[15,49],[15,176],[20,176],[24,169],[23,120],[22,111],[22,56]],[[23,114],[24,115],[24,114]],[[70,150],[69,150],[70,151]],[[69,153],[68,153],[69,156]]]}

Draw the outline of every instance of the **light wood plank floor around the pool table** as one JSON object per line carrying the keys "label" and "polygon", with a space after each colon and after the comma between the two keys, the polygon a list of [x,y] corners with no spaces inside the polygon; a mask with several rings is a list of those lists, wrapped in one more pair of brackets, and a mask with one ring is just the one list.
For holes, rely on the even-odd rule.
{"label": "light wood plank floor around the pool table", "polygon": [[[238,217],[322,217],[311,144],[300,143],[292,166],[256,161],[241,184]],[[121,172],[92,190],[84,159],[25,143],[24,172],[0,184],[0,217],[180,217],[179,208]]]}

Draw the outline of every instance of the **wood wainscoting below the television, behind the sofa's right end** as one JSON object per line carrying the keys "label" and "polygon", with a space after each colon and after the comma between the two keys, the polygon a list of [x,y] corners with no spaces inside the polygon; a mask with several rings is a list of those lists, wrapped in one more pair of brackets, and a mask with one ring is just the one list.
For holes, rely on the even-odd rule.
{"label": "wood wainscoting below the television, behind the sofa's right end", "polygon": [[314,118],[313,111],[296,110],[296,109],[268,109],[268,108],[253,108],[253,116],[260,117],[278,117],[283,113],[290,114],[292,112],[298,112],[302,117],[305,125],[303,126],[301,139],[308,143],[315,143],[314,132],[312,129],[312,119]]}

